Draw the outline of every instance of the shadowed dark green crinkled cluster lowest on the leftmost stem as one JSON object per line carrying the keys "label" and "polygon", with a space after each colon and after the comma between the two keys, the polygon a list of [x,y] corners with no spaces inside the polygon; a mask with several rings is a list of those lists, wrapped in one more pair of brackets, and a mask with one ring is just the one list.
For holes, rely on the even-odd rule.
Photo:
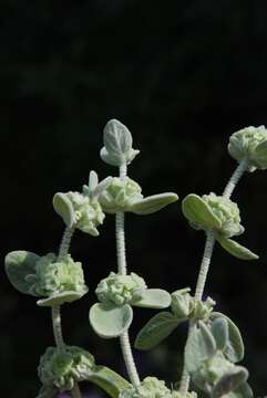
{"label": "shadowed dark green crinkled cluster lowest on the leftmost stem", "polygon": [[65,346],[63,352],[48,347],[40,358],[38,374],[44,387],[65,391],[76,381],[86,380],[94,367],[94,357],[80,347]]}

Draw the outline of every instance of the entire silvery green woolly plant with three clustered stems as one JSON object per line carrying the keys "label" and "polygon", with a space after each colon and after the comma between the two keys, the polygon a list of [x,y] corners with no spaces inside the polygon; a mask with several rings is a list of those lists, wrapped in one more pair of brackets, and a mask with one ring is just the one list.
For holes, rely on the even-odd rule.
{"label": "entire silvery green woolly plant with three clustered stems", "polygon": [[[129,129],[112,119],[104,128],[101,158],[117,167],[119,177],[99,182],[95,171],[81,192],[58,192],[53,207],[65,224],[59,253],[38,255],[29,251],[13,251],[6,256],[6,271],[12,285],[21,293],[38,297],[37,304],[51,307],[54,347],[48,347],[38,368],[42,383],[38,398],[53,398],[60,391],[82,397],[79,384],[90,381],[112,398],[251,398],[247,384],[248,370],[239,365],[244,344],[237,326],[226,315],[215,312],[216,303],[203,300],[213,249],[216,242],[240,260],[258,256],[232,238],[244,232],[238,206],[232,201],[233,191],[245,171],[267,169],[267,130],[264,126],[247,127],[230,136],[228,151],[238,167],[222,196],[188,195],[182,210],[189,224],[203,230],[206,244],[198,273],[195,294],[189,287],[174,293],[150,289],[141,275],[127,270],[124,221],[125,213],[150,214],[175,202],[176,193],[166,192],[144,197],[141,186],[127,176],[127,166],[138,150],[133,149]],[[61,305],[83,297],[88,286],[82,264],[70,254],[70,244],[76,229],[99,235],[99,226],[105,214],[115,216],[117,269],[112,270],[96,286],[97,303],[89,312],[93,331],[103,338],[120,338],[122,355],[130,381],[114,370],[95,364],[88,350],[68,345],[62,335]],[[184,349],[184,368],[177,389],[148,376],[143,380],[134,362],[129,337],[133,307],[164,310],[141,329],[135,348],[152,349],[176,327],[188,322],[188,337]],[[170,307],[170,311],[166,308]],[[191,383],[192,381],[192,383]],[[189,385],[192,390],[189,391]]]}

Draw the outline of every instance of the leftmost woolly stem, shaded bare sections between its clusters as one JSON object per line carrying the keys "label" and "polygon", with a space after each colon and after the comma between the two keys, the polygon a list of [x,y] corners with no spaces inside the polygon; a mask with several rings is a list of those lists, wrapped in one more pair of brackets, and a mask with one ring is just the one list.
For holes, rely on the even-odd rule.
{"label": "leftmost woolly stem, shaded bare sections between its clusters", "polygon": [[[73,235],[74,229],[73,228],[65,228],[60,249],[58,260],[60,260],[63,255],[69,253],[71,238]],[[53,333],[54,333],[54,341],[55,345],[60,353],[64,352],[64,341],[62,336],[62,326],[61,326],[61,315],[60,315],[60,305],[52,306],[52,325],[53,325]],[[82,398],[79,385],[75,383],[73,389],[71,390],[72,398]]]}

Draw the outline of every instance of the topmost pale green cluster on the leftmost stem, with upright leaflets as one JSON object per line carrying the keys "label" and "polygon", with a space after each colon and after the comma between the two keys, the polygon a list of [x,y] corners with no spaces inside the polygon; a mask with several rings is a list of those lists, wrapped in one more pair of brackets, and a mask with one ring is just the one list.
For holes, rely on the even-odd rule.
{"label": "topmost pale green cluster on the leftmost stem, with upright leaflets", "polygon": [[103,223],[105,214],[99,202],[100,195],[106,189],[111,178],[99,182],[95,171],[90,172],[89,185],[80,192],[58,192],[53,197],[54,210],[69,228],[80,229],[93,237],[99,235],[97,227]]}

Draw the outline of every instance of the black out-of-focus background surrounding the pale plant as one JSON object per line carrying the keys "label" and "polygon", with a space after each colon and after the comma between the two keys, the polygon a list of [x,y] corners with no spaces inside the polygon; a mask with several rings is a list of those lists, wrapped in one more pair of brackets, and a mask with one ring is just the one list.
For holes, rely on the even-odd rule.
{"label": "black out-of-focus background surrounding the pale plant", "polygon": [[[2,0],[0,10],[2,263],[16,249],[57,251],[63,224],[54,192],[79,190],[90,169],[116,174],[99,158],[110,118],[126,124],[141,149],[130,174],[144,193],[173,190],[181,199],[219,193],[236,167],[229,135],[267,123],[266,0]],[[256,171],[234,195],[247,229],[239,241],[260,260],[216,248],[206,287],[243,332],[256,397],[267,392],[266,185],[267,172]],[[171,292],[195,285],[204,245],[179,203],[126,218],[131,269]],[[63,332],[124,371],[119,342],[101,341],[88,322],[95,285],[115,268],[113,230],[107,217],[100,238],[73,240],[90,293],[63,307]],[[50,312],[16,292],[2,268],[0,314],[1,392],[34,397],[39,357],[53,345]],[[133,337],[153,314],[135,311]],[[142,377],[177,379],[185,337],[181,326],[167,344],[136,353]]]}

